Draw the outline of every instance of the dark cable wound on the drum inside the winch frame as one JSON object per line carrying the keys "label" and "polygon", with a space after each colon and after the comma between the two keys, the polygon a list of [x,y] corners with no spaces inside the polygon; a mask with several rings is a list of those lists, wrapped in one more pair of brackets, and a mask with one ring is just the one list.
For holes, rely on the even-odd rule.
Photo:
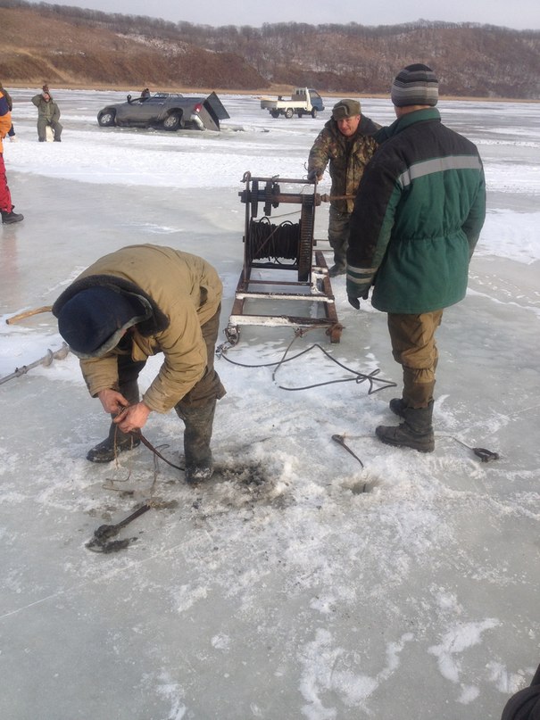
{"label": "dark cable wound on the drum inside the winch frame", "polygon": [[267,217],[251,219],[245,251],[248,261],[281,260],[298,261],[300,223],[289,220],[272,225]]}

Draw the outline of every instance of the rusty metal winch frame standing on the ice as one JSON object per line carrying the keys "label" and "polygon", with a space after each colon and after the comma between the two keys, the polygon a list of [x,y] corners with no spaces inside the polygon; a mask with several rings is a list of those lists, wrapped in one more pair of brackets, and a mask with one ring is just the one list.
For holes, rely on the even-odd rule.
{"label": "rusty metal winch frame standing on the ice", "polygon": [[[245,189],[238,194],[245,203],[244,267],[225,329],[228,342],[237,344],[240,326],[259,325],[326,328],[330,342],[339,343],[343,327],[337,320],[328,266],[320,250],[313,252],[315,207],[324,199],[317,193],[317,183],[278,176],[254,178],[250,172],[245,172],[242,181]],[[281,185],[299,185],[303,192],[285,192]],[[264,203],[264,215],[257,220],[259,203]],[[282,203],[300,205],[297,223],[270,222],[272,208]],[[253,270],[260,271],[258,277],[253,277]],[[291,279],[293,273],[295,279]],[[316,303],[315,314],[320,317],[248,312],[248,302],[256,301],[307,302],[311,309]]]}

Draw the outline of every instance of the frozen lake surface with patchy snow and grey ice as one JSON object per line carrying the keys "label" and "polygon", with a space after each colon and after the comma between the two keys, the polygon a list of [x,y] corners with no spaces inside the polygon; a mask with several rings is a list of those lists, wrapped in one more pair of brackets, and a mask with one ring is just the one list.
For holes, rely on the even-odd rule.
{"label": "frozen lake surface with patchy snow and grey ice", "polygon": [[[53,91],[62,143],[37,143],[37,90],[13,90],[4,142],[16,211],[0,235],[0,377],[61,347],[50,305],[81,269],[126,244],[203,255],[228,323],[243,261],[246,170],[303,178],[317,120],[273,120],[223,95],[220,133],[98,128],[124,94]],[[314,385],[350,375],[314,348],[275,380],[291,328],[242,330],[217,368],[228,389],[213,438],[221,474],[197,488],[143,446],[117,464],[87,449],[107,418],[68,355],[0,386],[0,716],[6,720],[499,720],[540,659],[538,286],[540,112],[534,103],[439,103],[477,143],[488,215],[469,293],[438,334],[436,451],[378,443],[390,388]],[[373,120],[389,101],[362,100]],[[320,185],[328,192],[328,174]],[[290,212],[279,207],[278,218]],[[324,242],[328,206],[316,213]],[[330,254],[328,253],[328,261]],[[332,345],[348,368],[400,383],[386,316],[346,302]],[[225,336],[223,336],[223,341]],[[154,359],[159,361],[159,359]],[[145,368],[142,385],[155,372]],[[345,442],[359,462],[338,444]],[[145,435],[172,461],[181,425]],[[484,447],[500,459],[483,463]],[[86,543],[144,501],[118,553]]]}

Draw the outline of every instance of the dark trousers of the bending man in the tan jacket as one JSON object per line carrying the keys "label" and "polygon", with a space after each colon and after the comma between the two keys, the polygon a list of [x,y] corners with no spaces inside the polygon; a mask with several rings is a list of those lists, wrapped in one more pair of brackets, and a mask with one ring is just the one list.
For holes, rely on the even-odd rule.
{"label": "dark trousers of the bending man in the tan jacket", "polygon": [[[223,385],[221,385],[220,376],[213,366],[214,355],[216,352],[216,342],[220,330],[220,310],[221,306],[214,315],[212,315],[212,318],[201,326],[204,343],[206,343],[206,352],[208,354],[206,372],[198,383],[195,383],[189,393],[184,395],[184,397],[177,403],[177,407],[179,408],[203,407],[209,402],[215,401],[216,399],[219,400],[227,392]],[[118,377],[120,387],[130,382],[137,381],[137,377],[145,367],[145,364],[145,360],[134,362],[131,360],[130,355],[119,355]]]}

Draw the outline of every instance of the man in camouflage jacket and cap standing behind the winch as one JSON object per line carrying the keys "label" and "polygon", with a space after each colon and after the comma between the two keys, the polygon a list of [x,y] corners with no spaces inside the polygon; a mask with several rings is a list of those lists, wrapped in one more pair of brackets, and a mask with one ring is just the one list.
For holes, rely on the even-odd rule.
{"label": "man in camouflage jacket and cap standing behind the winch", "polygon": [[334,264],[328,275],[345,274],[349,221],[354,197],[364,168],[377,149],[373,134],[380,125],[361,114],[357,100],[340,100],[332,117],[316,138],[308,158],[308,180],[320,180],[329,164],[332,186],[328,221],[328,241],[334,251]]}

